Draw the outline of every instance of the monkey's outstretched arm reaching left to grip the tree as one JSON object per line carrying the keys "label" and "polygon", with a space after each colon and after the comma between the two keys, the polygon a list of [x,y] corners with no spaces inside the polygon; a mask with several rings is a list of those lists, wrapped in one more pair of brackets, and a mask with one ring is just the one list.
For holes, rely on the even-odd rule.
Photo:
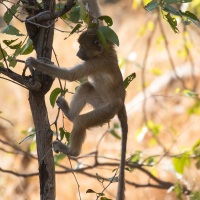
{"label": "monkey's outstretched arm reaching left to grip the tree", "polygon": [[66,69],[56,67],[53,64],[44,63],[32,57],[29,57],[26,60],[26,66],[34,67],[45,74],[68,81],[75,81],[84,77],[88,77],[90,74],[96,71],[95,67],[92,67],[90,64],[83,63],[80,65],[76,65],[71,69]]}

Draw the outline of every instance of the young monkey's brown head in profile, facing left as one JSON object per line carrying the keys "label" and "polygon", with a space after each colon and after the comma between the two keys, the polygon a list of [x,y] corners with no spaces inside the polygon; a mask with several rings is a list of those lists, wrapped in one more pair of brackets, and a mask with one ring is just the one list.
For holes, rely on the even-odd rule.
{"label": "young monkey's brown head in profile, facing left", "polygon": [[78,42],[80,46],[76,55],[82,60],[87,61],[98,58],[105,52],[105,48],[99,41],[96,31],[87,30],[83,32]]}

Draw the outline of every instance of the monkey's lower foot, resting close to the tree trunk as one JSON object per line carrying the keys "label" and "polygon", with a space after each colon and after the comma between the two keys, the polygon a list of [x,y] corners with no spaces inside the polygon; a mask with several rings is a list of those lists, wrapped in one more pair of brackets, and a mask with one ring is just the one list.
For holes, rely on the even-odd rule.
{"label": "monkey's lower foot, resting close to the tree trunk", "polygon": [[54,141],[52,143],[52,145],[53,145],[53,150],[56,153],[62,152],[68,156],[78,156],[79,155],[79,153],[77,153],[77,152],[72,152],[69,145],[65,145],[59,140]]}

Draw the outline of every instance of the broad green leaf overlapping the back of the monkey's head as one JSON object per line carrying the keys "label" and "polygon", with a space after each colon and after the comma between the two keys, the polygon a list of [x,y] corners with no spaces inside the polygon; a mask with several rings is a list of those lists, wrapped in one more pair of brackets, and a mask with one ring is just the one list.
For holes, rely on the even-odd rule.
{"label": "broad green leaf overlapping the back of the monkey's head", "polygon": [[98,28],[97,32],[101,32],[104,36],[104,38],[110,42],[112,42],[113,44],[116,44],[117,46],[119,46],[119,39],[117,34],[109,27],[107,26],[101,26]]}

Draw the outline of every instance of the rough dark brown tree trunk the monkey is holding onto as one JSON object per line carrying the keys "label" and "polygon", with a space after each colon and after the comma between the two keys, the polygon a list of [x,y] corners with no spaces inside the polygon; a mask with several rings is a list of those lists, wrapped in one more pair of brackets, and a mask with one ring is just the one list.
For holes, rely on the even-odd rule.
{"label": "rough dark brown tree trunk the monkey is holding onto", "polygon": [[[29,1],[31,3],[31,0]],[[44,10],[54,12],[55,1],[43,0]],[[51,22],[44,22],[44,26]],[[54,25],[50,28],[38,28],[38,34],[34,47],[37,58],[51,60]],[[35,42],[35,41],[33,41]],[[55,199],[55,168],[52,153],[52,131],[50,129],[48,113],[45,105],[45,94],[51,88],[53,79],[41,72],[34,72],[34,80],[41,84],[39,91],[29,90],[29,103],[36,131],[37,154],[39,164],[40,199]]]}

